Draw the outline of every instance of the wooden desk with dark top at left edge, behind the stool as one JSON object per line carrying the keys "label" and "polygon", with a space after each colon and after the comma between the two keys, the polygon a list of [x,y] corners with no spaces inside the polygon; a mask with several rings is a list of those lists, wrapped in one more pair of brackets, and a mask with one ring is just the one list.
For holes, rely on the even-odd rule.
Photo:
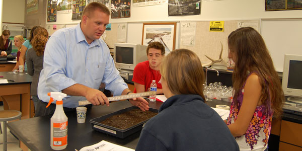
{"label": "wooden desk with dark top at left edge, behind the stool", "polygon": [[8,84],[0,84],[0,97],[3,100],[5,110],[18,110],[22,112],[22,118],[32,117],[30,105],[30,85],[32,77],[23,72],[23,74],[14,74],[13,72],[0,72],[3,78],[13,80]]}

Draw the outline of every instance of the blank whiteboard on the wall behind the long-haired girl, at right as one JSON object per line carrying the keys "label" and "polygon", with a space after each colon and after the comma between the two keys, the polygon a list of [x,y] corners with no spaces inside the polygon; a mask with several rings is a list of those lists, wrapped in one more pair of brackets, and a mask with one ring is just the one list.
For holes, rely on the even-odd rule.
{"label": "blank whiteboard on the wall behind the long-haired girl, at right", "polygon": [[284,54],[302,55],[302,18],[262,19],[260,33],[276,71],[283,72]]}

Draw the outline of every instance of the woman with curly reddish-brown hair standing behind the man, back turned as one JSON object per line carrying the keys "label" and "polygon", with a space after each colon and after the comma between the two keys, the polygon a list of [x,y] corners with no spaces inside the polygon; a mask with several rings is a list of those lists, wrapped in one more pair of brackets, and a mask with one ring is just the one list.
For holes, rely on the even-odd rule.
{"label": "woman with curly reddish-brown hair standing behind the man, back turned", "polygon": [[44,49],[48,40],[48,32],[45,28],[39,27],[34,31],[34,37],[31,41],[32,48],[28,49],[26,55],[26,63],[27,63],[27,72],[29,75],[33,76],[33,81],[31,84],[30,94],[33,96],[33,102],[35,105],[35,116],[40,116],[37,107],[38,98],[38,83],[40,72],[43,69],[43,57],[44,57]]}

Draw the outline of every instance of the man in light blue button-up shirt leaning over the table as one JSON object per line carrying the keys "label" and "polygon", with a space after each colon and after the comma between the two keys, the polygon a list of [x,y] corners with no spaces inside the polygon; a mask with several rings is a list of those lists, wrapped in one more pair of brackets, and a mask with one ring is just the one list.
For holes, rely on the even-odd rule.
{"label": "man in light blue button-up shirt leaning over the table", "polygon": [[[113,92],[114,96],[132,93],[115,68],[108,46],[100,40],[109,24],[109,15],[110,11],[103,4],[90,3],[85,7],[79,25],[60,29],[51,35],[39,78],[41,101],[35,107],[36,116],[54,112],[54,104],[45,109],[50,99],[48,92],[67,94],[63,99],[67,111],[78,107],[82,100],[109,106],[107,97],[98,90],[101,83],[106,84],[106,90]],[[148,102],[141,97],[133,98],[130,103],[143,111],[149,108]]]}

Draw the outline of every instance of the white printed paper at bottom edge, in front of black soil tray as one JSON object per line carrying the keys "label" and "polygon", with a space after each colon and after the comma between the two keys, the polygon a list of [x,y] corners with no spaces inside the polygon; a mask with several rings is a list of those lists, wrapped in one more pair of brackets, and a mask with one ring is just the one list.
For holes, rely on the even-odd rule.
{"label": "white printed paper at bottom edge, in front of black soil tray", "polygon": [[86,146],[83,147],[80,151],[97,151],[97,150],[102,150],[102,151],[119,151],[119,150],[123,150],[123,151],[133,151],[134,149],[131,148],[127,148],[124,146],[120,146],[105,140],[100,141],[99,143],[93,144],[91,146]]}

